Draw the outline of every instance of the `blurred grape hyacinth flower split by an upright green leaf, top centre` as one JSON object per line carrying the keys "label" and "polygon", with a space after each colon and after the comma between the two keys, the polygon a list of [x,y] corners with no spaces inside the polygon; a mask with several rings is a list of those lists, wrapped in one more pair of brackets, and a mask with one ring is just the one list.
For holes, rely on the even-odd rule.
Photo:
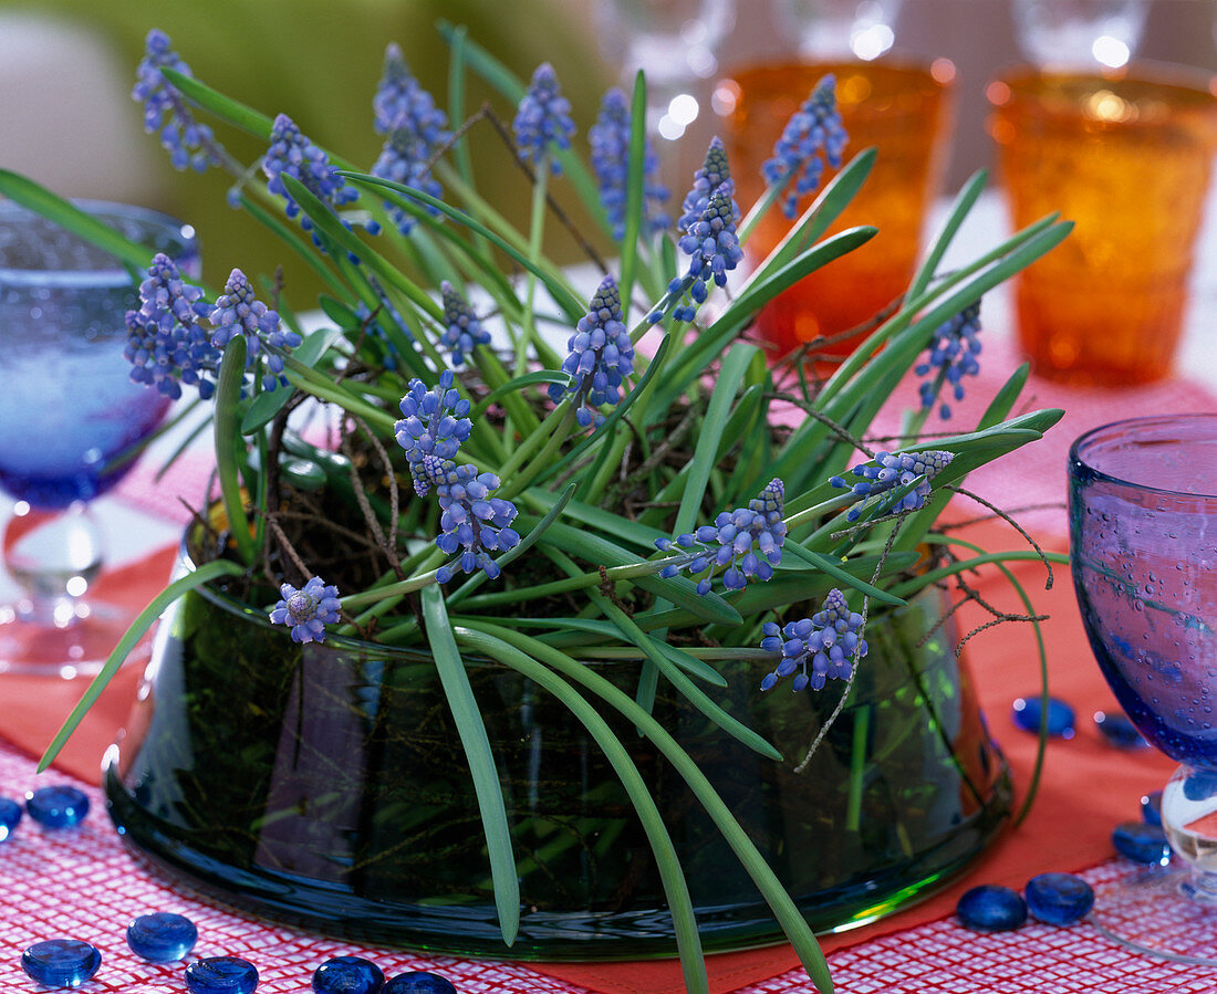
{"label": "blurred grape hyacinth flower split by an upright green leaf, top centre", "polygon": [[[600,113],[588,131],[588,140],[591,142],[591,169],[600,187],[600,204],[617,241],[626,235],[629,137],[629,103],[626,94],[613,88],[600,102]],[[657,235],[672,223],[663,213],[669,193],[657,179],[658,170],[660,157],[647,139],[643,150],[643,232],[646,235]]]}

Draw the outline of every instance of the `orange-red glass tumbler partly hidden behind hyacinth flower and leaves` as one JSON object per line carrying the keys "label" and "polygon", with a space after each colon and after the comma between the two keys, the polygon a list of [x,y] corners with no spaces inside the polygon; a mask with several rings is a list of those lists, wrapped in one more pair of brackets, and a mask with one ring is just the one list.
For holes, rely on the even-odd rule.
{"label": "orange-red glass tumbler partly hidden behind hyacinth flower and leaves", "polygon": [[[812,273],[767,305],[757,333],[775,358],[813,343],[819,358],[847,355],[860,335],[847,335],[892,304],[908,287],[921,248],[926,213],[946,158],[954,66],[901,62],[763,64],[723,80],[716,103],[727,113],[727,146],[738,200],[747,209],[765,189],[761,167],[800,105],[821,78],[836,77],[837,107],[848,133],[845,161],[874,146],[875,167],[830,232],[874,224],[867,245]],[[835,170],[824,170],[821,189]],[[802,213],[814,195],[800,204]],[[795,221],[775,204],[745,243],[757,265]],[[820,341],[825,339],[825,341]]]}

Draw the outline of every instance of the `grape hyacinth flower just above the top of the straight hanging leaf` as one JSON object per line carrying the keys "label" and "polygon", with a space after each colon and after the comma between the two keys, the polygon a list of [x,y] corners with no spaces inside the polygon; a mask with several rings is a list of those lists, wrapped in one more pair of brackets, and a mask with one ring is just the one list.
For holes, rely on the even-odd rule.
{"label": "grape hyacinth flower just above the top of the straight hanging leaf", "polygon": [[490,552],[506,552],[520,544],[520,533],[511,527],[518,511],[510,500],[493,496],[499,488],[494,473],[479,473],[476,466],[458,466],[450,459],[438,460],[434,472],[436,494],[439,498],[439,527],[436,546],[452,562],[436,571],[437,583],[448,583],[456,573],[484,569],[492,580],[499,578],[499,565]]}

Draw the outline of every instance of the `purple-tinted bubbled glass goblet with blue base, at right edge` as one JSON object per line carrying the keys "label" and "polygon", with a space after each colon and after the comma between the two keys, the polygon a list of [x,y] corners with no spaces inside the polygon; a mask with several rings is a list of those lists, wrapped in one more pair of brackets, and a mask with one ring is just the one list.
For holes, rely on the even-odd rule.
{"label": "purple-tinted bubbled glass goblet with blue base, at right edge", "polygon": [[1094,921],[1217,965],[1217,414],[1095,428],[1073,443],[1069,482],[1090,647],[1142,735],[1182,764],[1162,792],[1171,865],[1099,888]]}

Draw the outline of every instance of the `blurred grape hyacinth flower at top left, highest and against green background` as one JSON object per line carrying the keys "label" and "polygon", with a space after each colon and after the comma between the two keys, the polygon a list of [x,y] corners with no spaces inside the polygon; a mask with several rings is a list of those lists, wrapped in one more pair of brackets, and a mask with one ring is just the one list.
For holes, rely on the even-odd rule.
{"label": "blurred grape hyacinth flower at top left, highest and against green background", "polygon": [[169,35],[158,28],[148,32],[144,58],[135,71],[131,100],[144,105],[144,130],[161,133],[161,147],[169,153],[174,169],[206,173],[219,165],[219,145],[206,124],[195,120],[181,92],[166,79],[162,69],[191,75],[187,66],[170,47]]}

